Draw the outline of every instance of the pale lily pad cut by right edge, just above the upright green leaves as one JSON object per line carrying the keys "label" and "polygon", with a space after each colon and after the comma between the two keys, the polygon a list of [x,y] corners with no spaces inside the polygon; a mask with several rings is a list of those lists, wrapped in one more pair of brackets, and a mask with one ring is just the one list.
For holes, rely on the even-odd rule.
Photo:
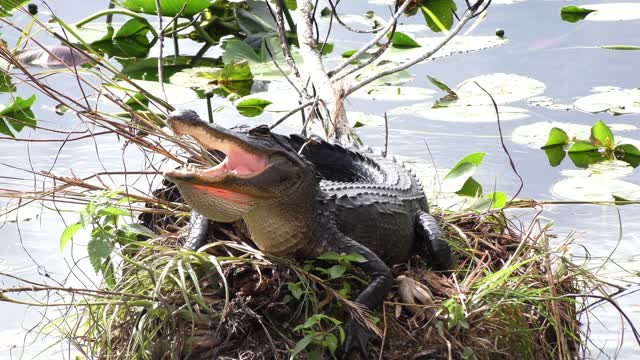
{"label": "pale lily pad cut by right edge, just above the upright green leaves", "polygon": [[574,106],[590,113],[609,112],[615,115],[640,113],[640,89],[612,89],[581,97]]}

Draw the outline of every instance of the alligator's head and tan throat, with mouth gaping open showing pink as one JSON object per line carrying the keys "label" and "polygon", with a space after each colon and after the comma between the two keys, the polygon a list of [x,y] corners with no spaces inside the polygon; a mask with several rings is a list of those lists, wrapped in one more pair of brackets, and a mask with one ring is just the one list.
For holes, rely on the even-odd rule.
{"label": "alligator's head and tan throat, with mouth gaping open showing pink", "polygon": [[[204,149],[225,155],[212,167],[187,165],[164,173],[187,204],[214,221],[243,218],[263,251],[291,252],[292,244],[278,243],[284,241],[282,237],[293,241],[291,233],[300,232],[305,225],[296,219],[311,217],[303,210],[314,199],[317,181],[312,167],[287,138],[266,126],[246,133],[230,131],[201,120],[190,110],[174,111],[167,122],[176,135],[190,136]],[[298,216],[301,211],[304,217]]]}

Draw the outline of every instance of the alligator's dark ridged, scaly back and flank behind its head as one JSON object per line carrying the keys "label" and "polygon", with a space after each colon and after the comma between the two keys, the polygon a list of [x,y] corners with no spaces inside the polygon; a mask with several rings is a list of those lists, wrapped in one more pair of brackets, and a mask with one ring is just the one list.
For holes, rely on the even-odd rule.
{"label": "alligator's dark ridged, scaly back and flank behind its head", "polygon": [[414,249],[415,215],[427,210],[415,175],[370,149],[354,151],[296,135],[289,141],[314,165],[320,178],[318,200],[332,209],[339,230],[389,264],[406,261]]}

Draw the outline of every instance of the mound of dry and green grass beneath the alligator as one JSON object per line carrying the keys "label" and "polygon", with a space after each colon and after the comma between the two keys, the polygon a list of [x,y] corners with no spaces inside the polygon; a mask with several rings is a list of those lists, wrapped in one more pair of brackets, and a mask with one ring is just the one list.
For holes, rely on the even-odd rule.
{"label": "mound of dry and green grass beneath the alligator", "polygon": [[[380,335],[370,358],[573,358],[584,339],[572,294],[599,284],[564,257],[568,244],[550,249],[546,227],[518,229],[503,211],[435,215],[457,268],[436,273],[419,258],[394,267],[373,314],[348,300],[364,278],[349,261],[269,257],[222,224],[185,251],[186,219],[153,219],[162,235],[121,249],[115,295],[79,307],[83,325],[68,338],[97,358],[333,358],[356,316]],[[336,266],[346,271],[335,276]]]}

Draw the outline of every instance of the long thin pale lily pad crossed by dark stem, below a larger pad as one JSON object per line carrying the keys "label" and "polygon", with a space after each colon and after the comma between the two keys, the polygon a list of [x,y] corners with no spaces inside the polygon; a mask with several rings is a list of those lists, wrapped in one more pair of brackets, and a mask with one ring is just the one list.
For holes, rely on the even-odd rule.
{"label": "long thin pale lily pad crossed by dark stem, below a larger pad", "polygon": [[[498,107],[501,121],[520,120],[529,117],[526,109],[500,106]],[[416,104],[395,108],[389,111],[393,116],[417,116],[429,120],[462,122],[462,123],[488,123],[496,121],[496,113],[493,106],[450,106],[433,108],[430,104]],[[544,144],[544,143],[543,143]]]}

